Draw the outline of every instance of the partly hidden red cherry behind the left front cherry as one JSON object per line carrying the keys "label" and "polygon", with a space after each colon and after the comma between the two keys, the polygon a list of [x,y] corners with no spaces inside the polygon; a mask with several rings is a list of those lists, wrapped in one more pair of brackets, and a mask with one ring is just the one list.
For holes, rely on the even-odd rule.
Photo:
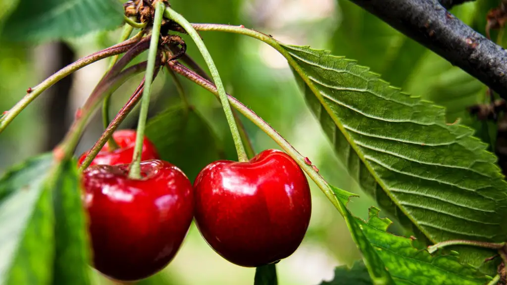
{"label": "partly hidden red cherry behind the left front cherry", "polygon": [[[119,149],[110,151],[109,144],[106,142],[104,147],[93,159],[91,165],[117,165],[117,164],[129,164],[132,162],[132,155],[134,154],[135,146],[135,130],[119,130],[113,133],[113,139],[116,141]],[[79,165],[83,163],[88,152],[84,153],[79,158]],[[159,159],[155,146],[148,138],[144,137],[142,142],[141,161]]]}

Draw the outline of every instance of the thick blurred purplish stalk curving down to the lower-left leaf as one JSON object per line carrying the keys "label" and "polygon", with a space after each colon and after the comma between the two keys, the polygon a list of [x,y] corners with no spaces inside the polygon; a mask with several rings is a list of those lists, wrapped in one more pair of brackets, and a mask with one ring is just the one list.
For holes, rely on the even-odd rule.
{"label": "thick blurred purplish stalk curving down to the lower-left leaf", "polygon": [[125,70],[123,70],[123,72],[115,76],[104,77],[101,80],[101,82],[97,84],[92,94],[90,95],[90,97],[88,97],[87,101],[83,105],[83,108],[81,109],[80,112],[81,115],[76,116],[73,125],[70,127],[69,131],[63,138],[62,142],[57,147],[63,151],[64,157],[73,155],[74,149],[78,144],[79,138],[83,133],[83,130],[88,122],[88,119],[98,108],[100,101],[103,99],[103,97],[106,94],[118,89],[118,87],[120,87],[128,79],[142,72],[142,70],[144,69],[146,69],[146,64],[138,63],[136,65],[130,66],[129,68],[126,68]]}

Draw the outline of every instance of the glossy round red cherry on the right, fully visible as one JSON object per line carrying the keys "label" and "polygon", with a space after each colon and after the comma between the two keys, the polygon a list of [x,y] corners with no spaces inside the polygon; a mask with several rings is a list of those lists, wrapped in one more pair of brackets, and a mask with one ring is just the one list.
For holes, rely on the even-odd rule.
{"label": "glossy round red cherry on the right, fully visible", "polygon": [[292,255],[310,222],[308,181],[278,150],[249,162],[215,161],[194,182],[195,221],[213,250],[245,267]]}

